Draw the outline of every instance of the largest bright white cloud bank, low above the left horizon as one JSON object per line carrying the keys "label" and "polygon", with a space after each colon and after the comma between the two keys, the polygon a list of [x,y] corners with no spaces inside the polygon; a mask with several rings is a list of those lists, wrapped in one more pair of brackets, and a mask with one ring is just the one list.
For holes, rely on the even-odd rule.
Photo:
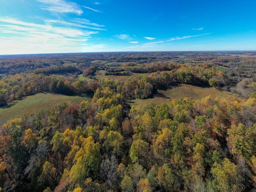
{"label": "largest bright white cloud bank, low above the left horizon", "polygon": [[[16,18],[0,17],[0,54],[27,54],[53,52],[87,52],[104,45],[87,45],[85,42],[98,31],[70,26],[59,26],[54,22],[34,24]],[[85,46],[85,48],[83,48]],[[25,49],[24,49],[25,48]]]}

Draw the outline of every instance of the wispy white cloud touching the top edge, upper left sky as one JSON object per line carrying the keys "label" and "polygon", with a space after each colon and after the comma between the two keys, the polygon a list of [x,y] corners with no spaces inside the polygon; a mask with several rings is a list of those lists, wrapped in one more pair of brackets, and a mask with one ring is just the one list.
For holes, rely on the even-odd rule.
{"label": "wispy white cloud touching the top edge, upper left sky", "polygon": [[81,15],[82,9],[74,2],[67,2],[65,0],[36,0],[44,4],[42,9],[57,13],[74,13]]}

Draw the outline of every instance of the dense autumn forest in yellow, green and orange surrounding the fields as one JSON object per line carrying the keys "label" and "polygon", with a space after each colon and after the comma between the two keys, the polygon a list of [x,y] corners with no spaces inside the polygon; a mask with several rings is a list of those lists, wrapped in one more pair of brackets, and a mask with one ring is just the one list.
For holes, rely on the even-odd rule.
{"label": "dense autumn forest in yellow, green and orange surrounding the fields", "polygon": [[[225,98],[130,102],[182,84]],[[90,100],[0,119],[2,192],[256,191],[256,52],[0,56],[0,110],[39,92]]]}

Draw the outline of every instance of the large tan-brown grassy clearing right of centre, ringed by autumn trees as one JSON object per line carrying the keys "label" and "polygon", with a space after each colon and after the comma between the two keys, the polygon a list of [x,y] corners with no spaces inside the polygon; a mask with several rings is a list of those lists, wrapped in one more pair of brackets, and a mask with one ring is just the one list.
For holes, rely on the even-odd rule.
{"label": "large tan-brown grassy clearing right of centre, ringed by autumn trees", "polygon": [[212,87],[198,87],[188,84],[180,84],[179,86],[170,87],[167,90],[157,90],[157,93],[153,94],[152,98],[148,99],[134,99],[129,102],[130,106],[138,108],[138,106],[144,106],[151,102],[156,104],[169,103],[172,100],[188,98],[189,100],[198,100],[206,96],[211,95],[212,97],[227,98],[232,94]]}

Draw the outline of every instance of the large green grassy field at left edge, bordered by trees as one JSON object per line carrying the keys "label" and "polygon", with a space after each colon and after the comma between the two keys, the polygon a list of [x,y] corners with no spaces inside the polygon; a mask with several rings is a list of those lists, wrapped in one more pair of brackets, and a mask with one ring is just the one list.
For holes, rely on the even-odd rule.
{"label": "large green grassy field at left edge, bordered by trees", "polygon": [[9,106],[0,107],[0,122],[11,120],[13,118],[21,118],[25,112],[31,113],[39,109],[45,110],[64,101],[81,103],[83,100],[91,100],[91,98],[86,97],[85,95],[66,96],[51,93],[38,93],[26,96],[21,100],[11,102]]}

